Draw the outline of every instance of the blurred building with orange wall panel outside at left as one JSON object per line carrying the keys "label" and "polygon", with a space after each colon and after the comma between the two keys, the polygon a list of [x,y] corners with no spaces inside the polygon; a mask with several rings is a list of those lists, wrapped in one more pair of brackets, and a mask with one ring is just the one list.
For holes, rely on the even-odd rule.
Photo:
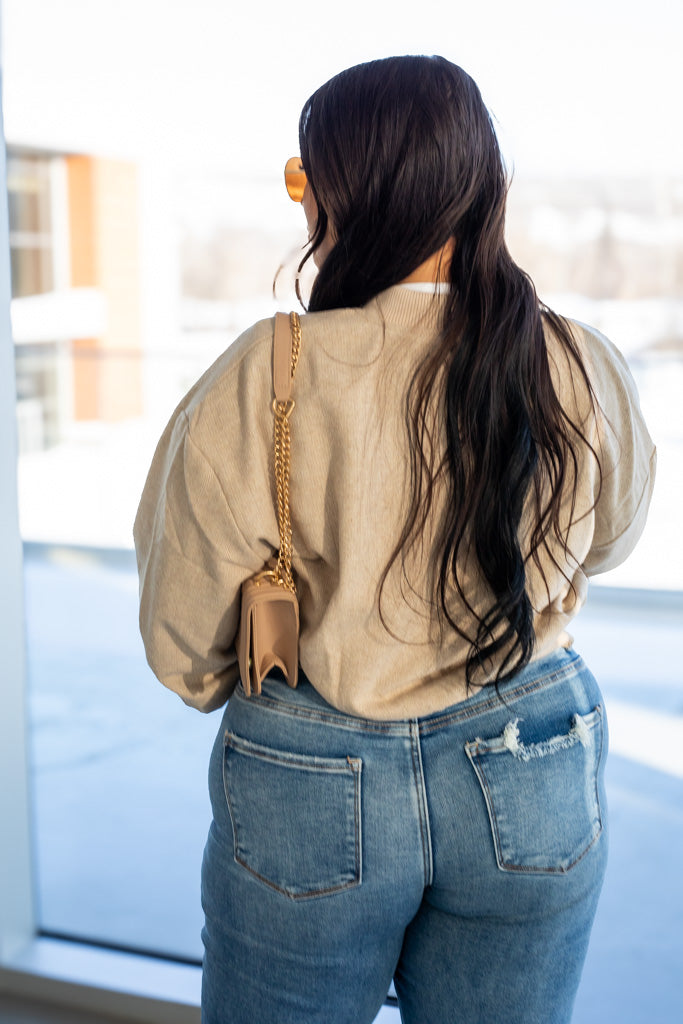
{"label": "blurred building with orange wall panel outside at left", "polygon": [[7,159],[19,452],[142,412],[135,164],[11,146]]}

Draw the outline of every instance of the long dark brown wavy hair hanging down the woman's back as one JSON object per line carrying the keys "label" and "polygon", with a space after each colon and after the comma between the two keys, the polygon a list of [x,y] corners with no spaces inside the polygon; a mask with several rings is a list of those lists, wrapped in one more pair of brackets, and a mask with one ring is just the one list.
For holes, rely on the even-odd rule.
{"label": "long dark brown wavy hair hanging down the woman's back", "polygon": [[[437,480],[445,479],[430,555],[434,602],[441,621],[470,643],[468,684],[482,674],[498,684],[532,656],[525,561],[543,575],[549,538],[568,556],[560,509],[568,488],[573,510],[580,447],[591,447],[555,393],[544,319],[594,401],[581,354],[566,323],[541,306],[507,250],[503,159],[479,90],[461,68],[438,56],[351,68],[307,100],[299,139],[318,209],[303,262],[329,225],[335,239],[310,310],[362,306],[455,240],[441,330],[408,391],[410,507],[382,579],[380,612],[387,574],[399,559],[405,571],[405,553],[432,513]],[[435,393],[443,455],[431,435]],[[519,535],[529,498],[533,528],[524,555]],[[472,556],[488,587],[483,612],[472,607],[462,579]],[[454,615],[454,587],[475,615],[475,636]]]}

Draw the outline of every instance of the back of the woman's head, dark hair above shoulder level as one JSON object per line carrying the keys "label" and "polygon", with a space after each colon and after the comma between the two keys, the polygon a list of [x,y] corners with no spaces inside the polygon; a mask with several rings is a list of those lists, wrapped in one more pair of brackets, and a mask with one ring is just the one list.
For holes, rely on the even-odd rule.
{"label": "back of the woman's head, dark hair above shoulder level", "polygon": [[443,57],[342,72],[304,104],[299,137],[318,207],[312,249],[329,223],[338,243],[311,309],[364,305],[454,237],[463,252],[504,244],[496,132],[475,82]]}

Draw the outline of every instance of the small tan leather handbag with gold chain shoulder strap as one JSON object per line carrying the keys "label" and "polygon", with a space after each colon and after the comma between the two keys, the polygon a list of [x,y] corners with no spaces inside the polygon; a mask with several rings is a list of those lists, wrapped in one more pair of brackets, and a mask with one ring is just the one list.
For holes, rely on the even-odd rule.
{"label": "small tan leather handbag with gold chain shoulder strap", "polygon": [[272,384],[275,397],[273,447],[280,551],[260,572],[242,585],[242,611],[237,650],[247,696],[261,692],[261,681],[279,668],[290,686],[299,678],[299,602],[292,577],[290,518],[290,416],[292,382],[301,347],[297,313],[275,314]]}

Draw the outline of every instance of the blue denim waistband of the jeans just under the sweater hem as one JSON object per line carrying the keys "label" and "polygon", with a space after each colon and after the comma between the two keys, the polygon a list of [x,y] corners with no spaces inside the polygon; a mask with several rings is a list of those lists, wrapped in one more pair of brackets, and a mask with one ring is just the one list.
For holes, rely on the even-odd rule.
{"label": "blue denim waistband of the jeans just under the sweater hem", "polygon": [[247,697],[242,687],[239,686],[231,699],[234,700],[237,697],[253,706],[268,708],[282,715],[325,721],[331,726],[352,729],[355,732],[399,736],[411,733],[417,723],[420,733],[426,734],[508,706],[511,701],[557,685],[581,672],[588,672],[581,655],[572,648],[560,647],[550,654],[531,662],[513,679],[502,683],[498,687],[498,692],[493,685],[483,686],[465,700],[460,700],[442,711],[433,712],[417,719],[370,719],[339,711],[321,696],[301,670],[299,670],[299,685],[296,689],[288,686],[284,677],[276,673],[263,680],[263,689],[259,696]]}

